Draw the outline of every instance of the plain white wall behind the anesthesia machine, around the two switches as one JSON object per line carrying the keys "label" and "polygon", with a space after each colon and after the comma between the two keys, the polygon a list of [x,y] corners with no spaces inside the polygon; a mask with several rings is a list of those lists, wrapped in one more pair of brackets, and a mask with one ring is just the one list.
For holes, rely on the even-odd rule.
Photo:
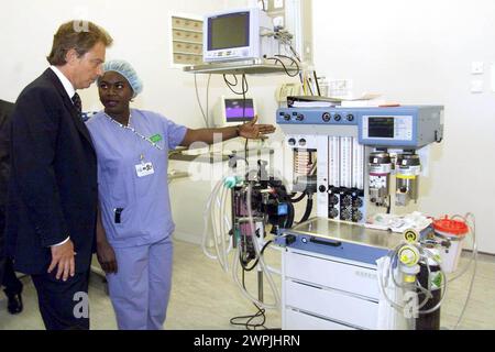
{"label": "plain white wall behind the anesthesia machine, around the two switches", "polygon": [[[473,212],[480,250],[495,253],[495,1],[314,0],[314,33],[317,70],[352,79],[354,94],[444,106],[444,141],[432,150],[419,207]],[[471,75],[472,62],[485,73]],[[472,79],[484,81],[482,94],[470,92]]]}

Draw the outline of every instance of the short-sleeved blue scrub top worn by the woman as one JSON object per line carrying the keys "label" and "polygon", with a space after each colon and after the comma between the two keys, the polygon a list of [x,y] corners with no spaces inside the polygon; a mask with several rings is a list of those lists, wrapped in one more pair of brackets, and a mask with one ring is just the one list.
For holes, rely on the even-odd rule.
{"label": "short-sleeved blue scrub top worn by the woman", "polygon": [[[165,117],[131,109],[131,127],[146,138],[161,135],[156,148],[150,142],[111,121],[102,111],[86,122],[98,156],[98,193],[107,239],[114,248],[161,241],[174,232],[168,195],[168,150],[186,135],[186,127]],[[139,177],[135,166],[153,163],[154,174]],[[116,209],[121,208],[120,223]]]}

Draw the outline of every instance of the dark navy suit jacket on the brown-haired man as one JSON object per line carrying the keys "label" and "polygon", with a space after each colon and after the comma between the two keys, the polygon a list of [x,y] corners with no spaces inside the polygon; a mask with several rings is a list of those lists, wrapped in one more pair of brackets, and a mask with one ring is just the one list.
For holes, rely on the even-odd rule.
{"label": "dark navy suit jacket on the brown-haired man", "polygon": [[96,153],[86,125],[50,68],[15,102],[10,151],[6,238],[15,270],[46,273],[50,246],[70,235],[76,272],[88,271],[98,195]]}

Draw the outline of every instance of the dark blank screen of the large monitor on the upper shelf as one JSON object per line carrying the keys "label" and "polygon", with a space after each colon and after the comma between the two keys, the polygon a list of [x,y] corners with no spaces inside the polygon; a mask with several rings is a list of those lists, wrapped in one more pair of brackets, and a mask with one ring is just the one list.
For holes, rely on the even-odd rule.
{"label": "dark blank screen of the large monitor on the upper shelf", "polygon": [[235,12],[208,19],[208,50],[250,45],[250,12]]}

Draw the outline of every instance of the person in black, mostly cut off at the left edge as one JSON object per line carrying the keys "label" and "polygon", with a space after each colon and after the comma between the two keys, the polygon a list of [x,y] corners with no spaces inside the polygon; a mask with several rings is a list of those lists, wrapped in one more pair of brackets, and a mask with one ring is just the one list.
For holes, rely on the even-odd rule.
{"label": "person in black, mostly cut off at the left edge", "polygon": [[[14,105],[0,99],[0,286],[3,285],[7,295],[7,310],[15,315],[22,311],[22,283],[15,276],[12,260],[2,258],[2,239],[6,228],[6,200],[7,200],[7,183],[9,180],[9,127],[10,117]],[[3,279],[1,272],[3,271]]]}

